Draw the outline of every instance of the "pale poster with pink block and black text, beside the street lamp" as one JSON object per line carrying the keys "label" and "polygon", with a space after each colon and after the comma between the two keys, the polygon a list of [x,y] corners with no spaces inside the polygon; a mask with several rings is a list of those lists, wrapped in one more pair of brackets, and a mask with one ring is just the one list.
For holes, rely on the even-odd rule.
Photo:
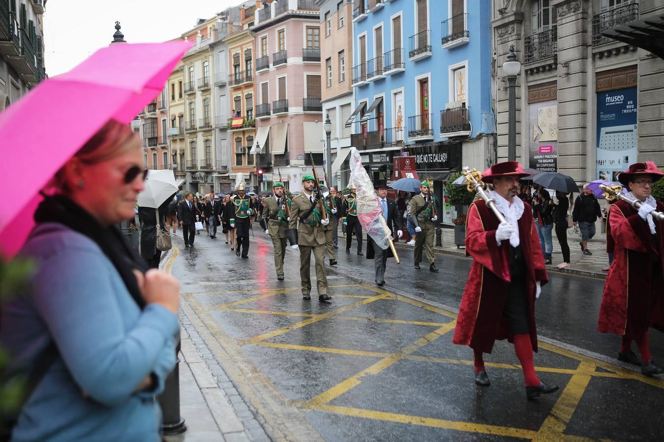
{"label": "pale poster with pink block and black text, beside the street lamp", "polygon": [[531,103],[528,107],[529,164],[542,172],[558,172],[558,103]]}

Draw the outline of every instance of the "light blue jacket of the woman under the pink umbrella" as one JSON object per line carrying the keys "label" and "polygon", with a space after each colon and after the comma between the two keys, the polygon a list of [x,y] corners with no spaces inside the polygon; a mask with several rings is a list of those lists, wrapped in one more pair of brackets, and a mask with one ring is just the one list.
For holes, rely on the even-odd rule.
{"label": "light blue jacket of the woman under the pink umbrella", "polygon": [[[92,240],[63,225],[21,250],[37,262],[33,290],[3,307],[1,345],[14,366],[31,368],[55,341],[59,355],[14,427],[13,441],[158,441],[155,395],[175,366],[177,316],[143,311]],[[151,392],[134,392],[153,374]]]}

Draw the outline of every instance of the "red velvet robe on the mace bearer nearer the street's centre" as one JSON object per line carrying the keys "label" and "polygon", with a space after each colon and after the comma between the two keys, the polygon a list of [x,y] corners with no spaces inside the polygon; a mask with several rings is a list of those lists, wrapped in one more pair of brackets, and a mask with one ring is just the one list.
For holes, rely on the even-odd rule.
{"label": "red velvet robe on the mace bearer nearer the street's centre", "polygon": [[[527,265],[526,294],[528,297],[528,325],[533,350],[537,351],[537,329],[535,327],[535,281],[542,286],[548,282],[544,256],[539,243],[533,210],[524,203],[523,215],[519,219],[521,251]],[[483,199],[473,202],[468,211],[465,226],[466,254],[473,257],[468,282],[463,290],[461,307],[452,342],[491,353],[496,339],[513,341],[503,307],[507,297],[509,274],[509,241],[499,246],[495,231],[498,218],[487,207]]]}

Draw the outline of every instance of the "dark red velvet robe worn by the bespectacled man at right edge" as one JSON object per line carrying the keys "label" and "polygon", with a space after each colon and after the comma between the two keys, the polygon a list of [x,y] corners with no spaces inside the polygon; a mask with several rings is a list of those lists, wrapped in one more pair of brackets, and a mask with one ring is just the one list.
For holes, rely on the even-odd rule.
{"label": "dark red velvet robe worn by the bespectacled man at right edge", "polygon": [[[657,210],[664,205],[657,201]],[[646,221],[625,201],[609,209],[614,262],[604,286],[599,331],[637,339],[648,326],[664,331],[664,222],[655,220],[657,245]],[[653,271],[653,256],[659,267]]]}

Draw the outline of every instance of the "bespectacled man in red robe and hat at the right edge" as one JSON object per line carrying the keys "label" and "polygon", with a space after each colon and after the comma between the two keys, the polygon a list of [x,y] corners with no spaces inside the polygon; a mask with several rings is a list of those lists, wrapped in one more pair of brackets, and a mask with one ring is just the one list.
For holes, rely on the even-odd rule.
{"label": "bespectacled man in red robe and hat at the right edge", "polygon": [[[614,262],[604,286],[598,329],[621,335],[618,359],[641,365],[647,376],[664,373],[653,362],[648,327],[664,331],[664,221],[653,218],[653,210],[664,205],[650,193],[653,182],[664,176],[655,163],[631,164],[618,181],[629,189],[627,197],[642,205],[635,209],[622,199],[609,209]],[[641,360],[631,351],[636,341]]]}

